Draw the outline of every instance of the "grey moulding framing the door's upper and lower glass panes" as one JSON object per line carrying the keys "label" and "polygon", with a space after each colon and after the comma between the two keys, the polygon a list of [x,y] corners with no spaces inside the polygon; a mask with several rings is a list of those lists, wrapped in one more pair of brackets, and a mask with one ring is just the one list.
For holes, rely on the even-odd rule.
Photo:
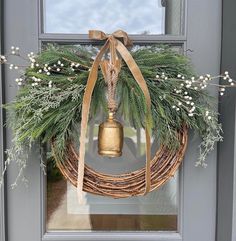
{"label": "grey moulding framing the door's upper and lower glass panes", "polygon": [[[92,44],[101,45],[101,41],[91,40],[87,34],[57,34],[57,33],[44,33],[44,4],[43,0],[38,0],[38,16],[39,16],[39,50],[45,43],[60,43],[60,44]],[[187,0],[183,0],[182,9],[182,33],[183,35],[129,35],[135,45],[148,45],[148,44],[169,44],[181,47],[186,53],[187,51],[187,35],[186,35],[186,18],[187,18]],[[43,154],[43,153],[42,153]],[[44,154],[43,154],[44,155]],[[178,228],[177,231],[47,231],[46,230],[46,185],[47,180],[45,175],[41,174],[41,235],[43,241],[68,241],[68,240],[183,240],[183,168],[179,169],[178,180]]]}

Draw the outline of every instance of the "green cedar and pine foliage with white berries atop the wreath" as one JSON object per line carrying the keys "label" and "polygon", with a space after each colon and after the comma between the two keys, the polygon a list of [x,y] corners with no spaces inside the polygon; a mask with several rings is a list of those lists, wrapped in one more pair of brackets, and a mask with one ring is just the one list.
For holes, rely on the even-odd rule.
{"label": "green cedar and pine foliage with white berries atop the wreath", "polygon": [[[12,152],[17,150],[19,154],[35,141],[40,144],[53,141],[59,159],[63,160],[67,141],[79,135],[83,93],[97,51],[92,46],[48,45],[38,55],[30,53],[22,57],[28,67],[16,79],[21,88],[15,99],[5,106],[7,123],[14,134]],[[170,150],[179,147],[177,133],[183,126],[193,129],[202,138],[196,165],[206,166],[207,154],[222,140],[214,98],[206,87],[213,85],[223,95],[225,88],[233,87],[235,82],[228,72],[216,76],[228,82],[222,86],[214,82],[216,77],[197,77],[189,59],[168,46],[135,47],[131,54],[150,91],[152,118],[145,118],[145,98],[124,62],[117,84],[118,114],[134,128],[142,128],[148,121],[152,135]],[[17,71],[19,66],[13,68],[16,65],[9,62],[11,55],[1,56],[1,63]],[[19,50],[17,57],[21,57]],[[99,70],[90,118],[101,112],[106,115],[106,91]],[[8,153],[13,156],[11,150]],[[18,157],[20,159],[20,155]],[[20,163],[25,166],[26,162]]]}

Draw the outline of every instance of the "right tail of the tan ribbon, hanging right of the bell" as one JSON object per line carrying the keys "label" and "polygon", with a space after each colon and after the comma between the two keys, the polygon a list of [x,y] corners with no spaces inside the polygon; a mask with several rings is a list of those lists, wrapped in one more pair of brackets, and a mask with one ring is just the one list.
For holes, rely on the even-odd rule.
{"label": "right tail of the tan ribbon, hanging right of the bell", "polygon": [[151,130],[149,126],[149,115],[151,115],[151,97],[150,93],[146,84],[145,79],[143,78],[143,75],[134,61],[132,55],[129,53],[127,48],[119,41],[117,40],[117,46],[116,49],[120,53],[121,57],[126,62],[128,68],[130,69],[134,79],[137,81],[139,87],[143,91],[143,94],[145,96],[146,105],[147,105],[147,116],[146,116],[146,123],[145,123],[145,134],[146,134],[146,172],[145,172],[145,190],[144,195],[147,194],[151,189]]}

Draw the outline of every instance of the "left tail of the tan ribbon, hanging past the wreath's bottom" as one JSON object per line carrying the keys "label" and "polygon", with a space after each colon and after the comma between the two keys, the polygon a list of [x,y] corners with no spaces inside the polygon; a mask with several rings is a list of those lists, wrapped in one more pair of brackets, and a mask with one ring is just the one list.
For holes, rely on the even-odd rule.
{"label": "left tail of the tan ribbon, hanging past the wreath's bottom", "polygon": [[89,109],[91,104],[92,93],[94,90],[95,83],[97,81],[98,76],[98,67],[100,64],[100,60],[104,55],[105,51],[109,46],[109,42],[107,41],[104,46],[101,48],[97,57],[95,58],[93,65],[91,67],[91,71],[89,73],[89,77],[87,80],[87,85],[85,88],[84,96],[83,96],[83,104],[82,104],[82,119],[81,119],[81,128],[80,128],[80,148],[79,148],[79,161],[78,161],[78,178],[77,178],[77,195],[78,201],[81,204],[83,202],[83,181],[84,181],[84,166],[85,166],[85,140],[86,140],[86,132],[87,125],[89,119]]}

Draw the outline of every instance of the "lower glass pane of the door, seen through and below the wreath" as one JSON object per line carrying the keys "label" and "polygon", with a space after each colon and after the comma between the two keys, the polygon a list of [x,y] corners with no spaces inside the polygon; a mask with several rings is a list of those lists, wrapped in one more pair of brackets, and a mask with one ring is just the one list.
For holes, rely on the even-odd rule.
{"label": "lower glass pane of the door, seen through and below the wreath", "polygon": [[[145,165],[145,133],[125,127],[123,155],[97,154],[98,123],[90,124],[86,163],[97,171],[119,174]],[[158,145],[152,144],[152,155]],[[164,186],[143,197],[113,199],[86,193],[78,204],[76,188],[48,164],[47,230],[177,231],[178,173]]]}

